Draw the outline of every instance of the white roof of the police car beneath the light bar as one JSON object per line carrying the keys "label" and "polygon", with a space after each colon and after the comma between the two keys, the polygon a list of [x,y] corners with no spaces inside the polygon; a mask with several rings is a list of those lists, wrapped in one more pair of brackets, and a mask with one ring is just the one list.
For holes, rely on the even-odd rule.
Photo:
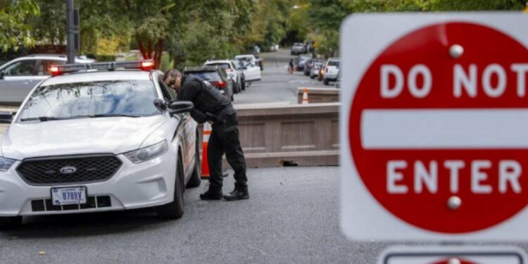
{"label": "white roof of the police car beneath the light bar", "polygon": [[72,73],[49,77],[42,86],[75,82],[98,82],[111,80],[151,80],[151,72],[144,70],[114,70]]}

